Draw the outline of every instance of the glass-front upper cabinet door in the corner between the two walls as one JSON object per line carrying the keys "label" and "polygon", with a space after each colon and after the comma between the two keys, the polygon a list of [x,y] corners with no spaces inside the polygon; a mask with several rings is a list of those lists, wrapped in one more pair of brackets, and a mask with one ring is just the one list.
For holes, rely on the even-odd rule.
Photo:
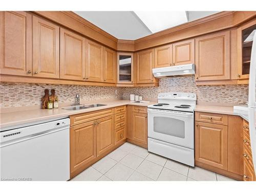
{"label": "glass-front upper cabinet door in the corner between the two walls", "polygon": [[117,53],[117,83],[133,83],[133,53]]}

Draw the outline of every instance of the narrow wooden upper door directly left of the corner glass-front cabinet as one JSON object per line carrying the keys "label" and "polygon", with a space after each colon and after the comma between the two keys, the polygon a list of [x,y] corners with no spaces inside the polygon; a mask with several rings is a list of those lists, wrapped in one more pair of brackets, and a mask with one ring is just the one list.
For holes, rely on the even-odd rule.
{"label": "narrow wooden upper door directly left of the corner glass-front cabinet", "polygon": [[117,57],[116,52],[105,48],[103,49],[103,81],[115,83],[116,82],[116,68],[117,68]]}

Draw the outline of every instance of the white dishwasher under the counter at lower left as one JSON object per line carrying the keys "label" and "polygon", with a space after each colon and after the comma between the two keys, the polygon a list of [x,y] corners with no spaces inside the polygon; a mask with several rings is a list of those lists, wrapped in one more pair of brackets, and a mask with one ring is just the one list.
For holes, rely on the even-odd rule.
{"label": "white dishwasher under the counter at lower left", "polygon": [[1,181],[70,179],[70,119],[2,131]]}

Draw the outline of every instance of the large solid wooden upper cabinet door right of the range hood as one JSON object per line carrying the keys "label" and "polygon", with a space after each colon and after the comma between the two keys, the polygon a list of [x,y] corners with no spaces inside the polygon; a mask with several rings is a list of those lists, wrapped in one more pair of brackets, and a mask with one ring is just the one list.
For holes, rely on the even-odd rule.
{"label": "large solid wooden upper cabinet door right of the range hood", "polygon": [[196,38],[196,80],[230,79],[230,31]]}

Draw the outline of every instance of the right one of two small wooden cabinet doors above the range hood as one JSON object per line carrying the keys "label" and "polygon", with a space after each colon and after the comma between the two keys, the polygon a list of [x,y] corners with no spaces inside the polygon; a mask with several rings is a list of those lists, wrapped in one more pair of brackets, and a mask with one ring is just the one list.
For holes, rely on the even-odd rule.
{"label": "right one of two small wooden cabinet doors above the range hood", "polygon": [[195,63],[195,39],[179,41],[173,44],[173,65]]}

